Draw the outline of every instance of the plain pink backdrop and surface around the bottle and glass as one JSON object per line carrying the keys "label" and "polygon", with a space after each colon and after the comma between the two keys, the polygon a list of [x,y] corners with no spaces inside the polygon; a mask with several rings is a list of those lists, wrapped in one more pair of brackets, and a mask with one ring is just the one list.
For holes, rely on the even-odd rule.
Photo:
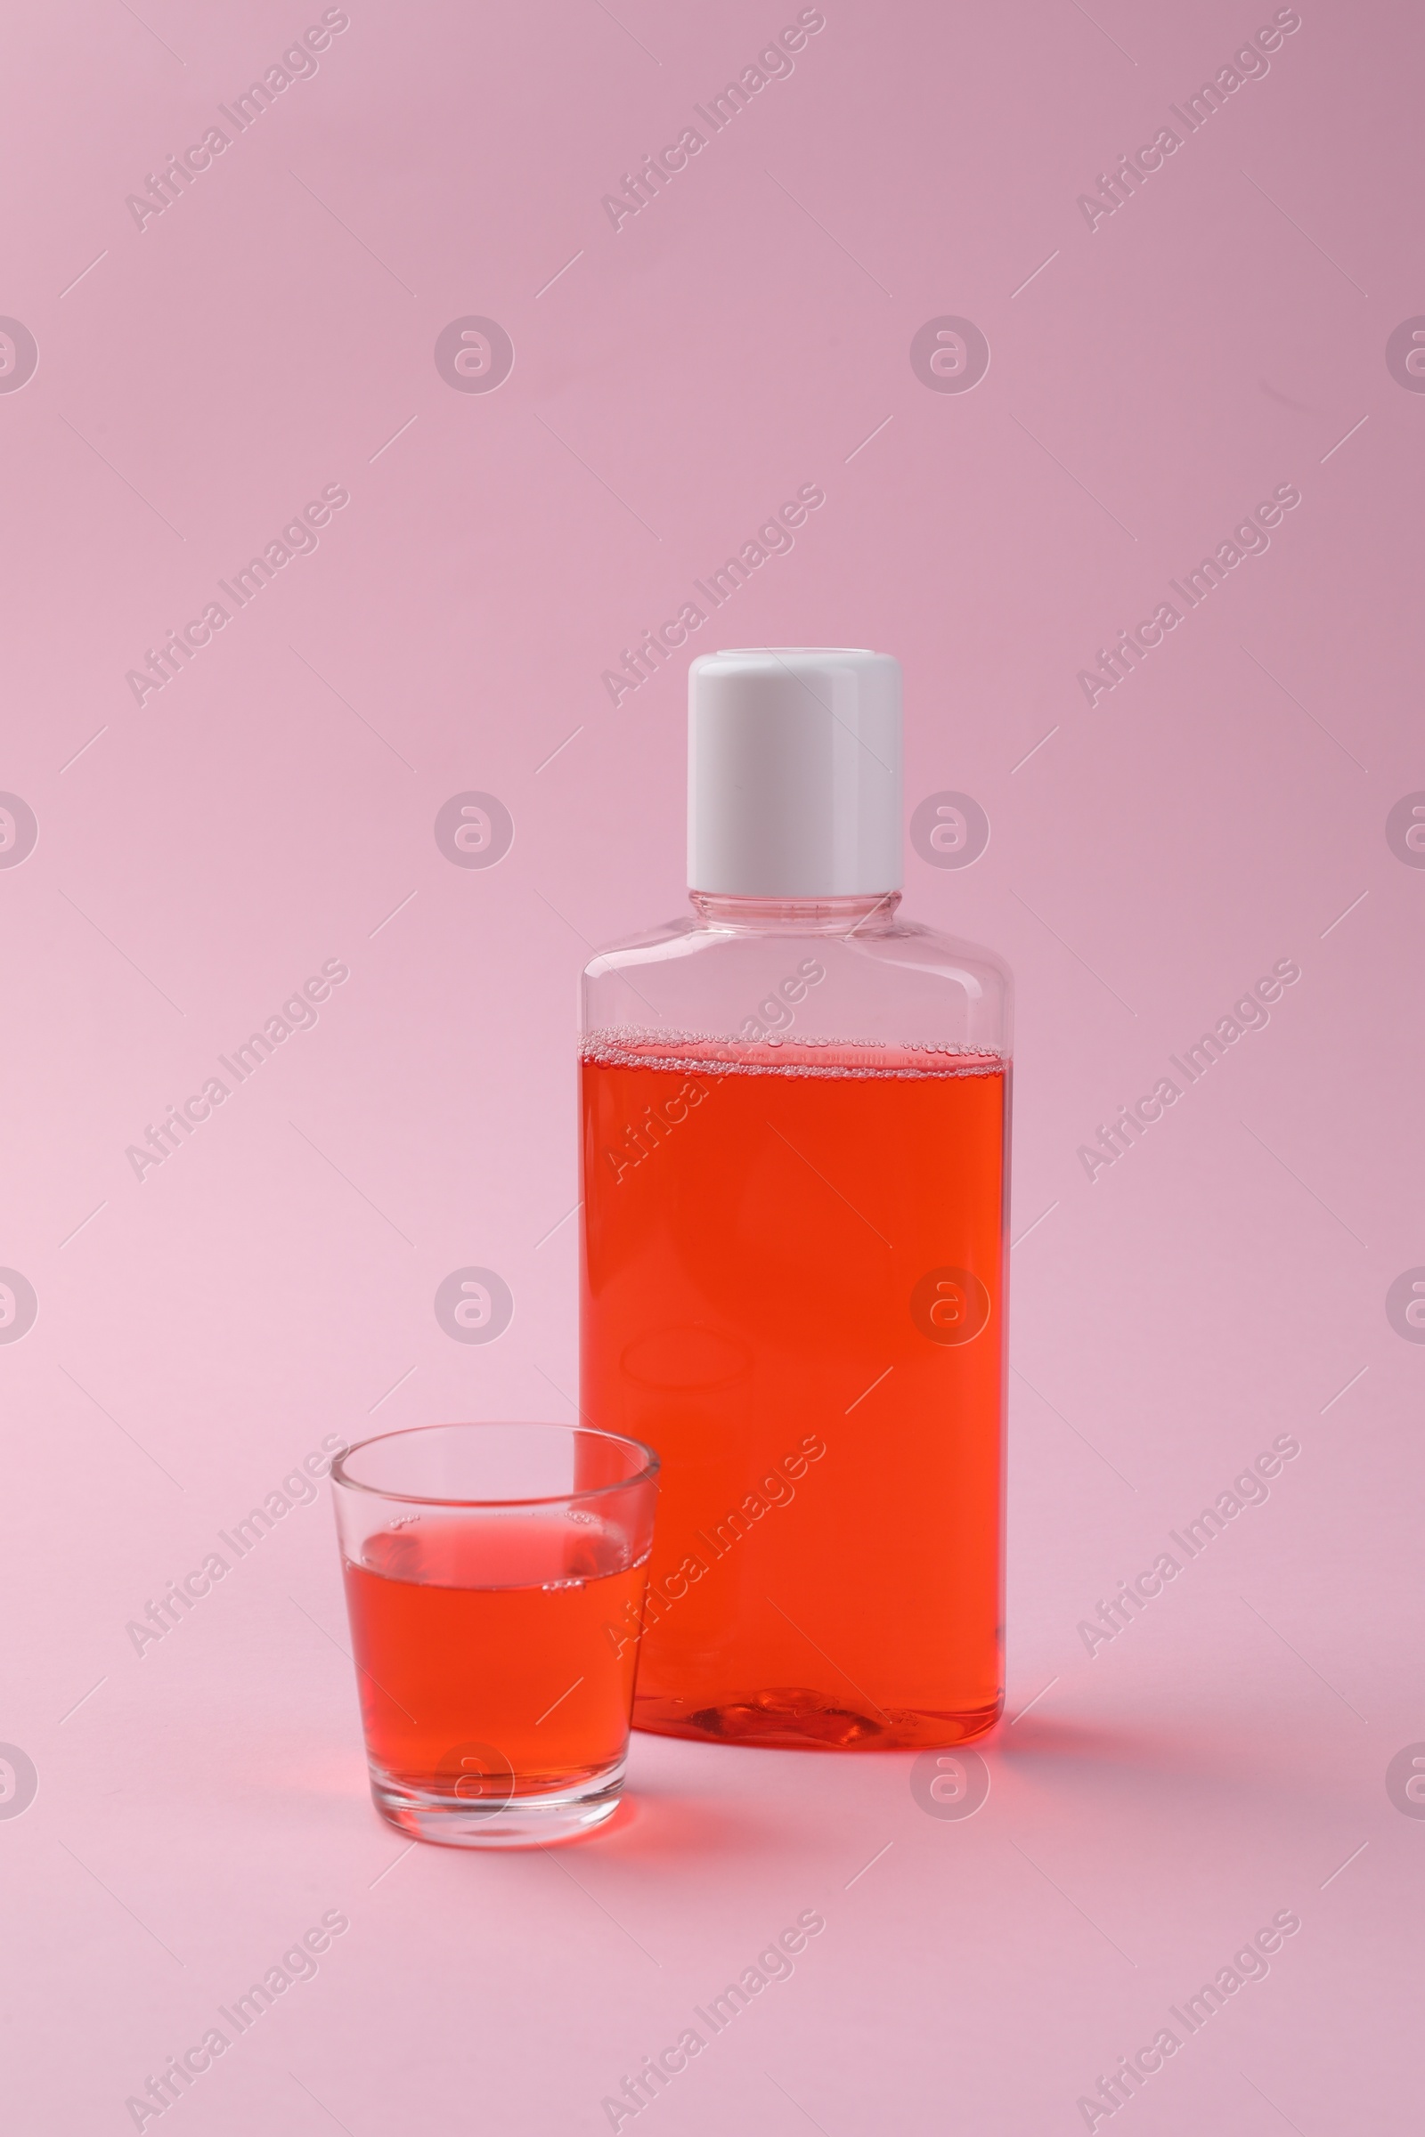
{"label": "plain pink backdrop and surface around the bottle and glass", "polygon": [[[318,6],[30,9],[0,90],[0,312],[38,342],[0,393],[0,789],[38,818],[0,868],[0,1263],[38,1295],[0,1344],[0,1737],[38,1769],[0,1821],[9,2122],[130,2128],[340,1908],[184,2128],[594,2133],[820,1908],[660,2128],[1072,2131],[1293,1908],[1119,2113],[1416,2128],[1425,1823],[1384,1776],[1425,1737],[1425,1351],[1384,1295],[1425,1263],[1425,872],[1384,821],[1425,789],[1425,400],[1384,344],[1425,310],[1419,13],[1303,0],[1094,231],[1077,194],[1271,6],[827,0],[617,231],[602,194],[795,6],[348,13],[143,229],[126,194]],[[515,346],[496,393],[434,363],[472,314]],[[910,368],[942,314],[989,340],[972,393]],[[145,648],[329,483],[316,553],[139,707]],[[686,654],[617,709],[600,675],[803,483],[688,652],[897,652],[908,810],[991,823],[968,870],[908,855],[908,910],[1019,981],[989,1799],[639,1737],[585,1846],[402,1855],[325,1504],[143,1656],[126,1622],[325,1434],[573,1415],[575,974],[684,895]],[[1271,549],[1090,709],[1096,648],[1280,483]],[[491,870],[434,840],[468,789],[515,821]],[[139,1182],[126,1145],[329,957],[320,1024]],[[1271,1026],[1090,1182],[1077,1145],[1282,957]],[[432,1312],[468,1263],[515,1297],[487,1346]],[[1090,1656],[1079,1620],[1284,1432],[1271,1500]]]}

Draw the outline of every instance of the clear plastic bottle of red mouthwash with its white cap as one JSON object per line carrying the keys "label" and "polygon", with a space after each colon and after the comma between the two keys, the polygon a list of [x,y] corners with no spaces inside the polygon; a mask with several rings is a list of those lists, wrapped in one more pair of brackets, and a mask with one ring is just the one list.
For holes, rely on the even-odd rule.
{"label": "clear plastic bottle of red mouthwash with its white cap", "polygon": [[585,1417],[662,1457],[635,1727],[1002,1707],[1011,981],[899,917],[899,665],[690,673],[692,915],[594,957]]}

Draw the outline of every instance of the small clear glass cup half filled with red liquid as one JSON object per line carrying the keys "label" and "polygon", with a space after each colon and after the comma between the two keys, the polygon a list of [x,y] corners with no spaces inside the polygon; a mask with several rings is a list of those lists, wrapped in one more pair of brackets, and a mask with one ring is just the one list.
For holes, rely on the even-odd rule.
{"label": "small clear glass cup half filled with red liquid", "polygon": [[532,1846],[624,1789],[658,1455],[583,1425],[385,1432],[331,1464],[376,1808]]}

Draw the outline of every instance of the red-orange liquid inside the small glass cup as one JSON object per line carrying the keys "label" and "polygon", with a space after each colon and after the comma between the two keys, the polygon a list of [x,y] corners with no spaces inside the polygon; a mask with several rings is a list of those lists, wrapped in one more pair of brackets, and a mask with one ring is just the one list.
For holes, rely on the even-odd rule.
{"label": "red-orange liquid inside the small glass cup", "polygon": [[583,1511],[421,1515],[361,1558],[346,1607],[391,1780],[498,1806],[622,1757],[647,1577],[622,1534]]}

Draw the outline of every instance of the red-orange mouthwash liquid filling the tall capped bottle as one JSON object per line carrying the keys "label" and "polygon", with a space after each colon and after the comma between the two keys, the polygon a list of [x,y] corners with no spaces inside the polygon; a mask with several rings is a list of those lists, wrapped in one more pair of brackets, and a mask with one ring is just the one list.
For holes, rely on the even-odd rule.
{"label": "red-orange mouthwash liquid filling the tall capped bottle", "polygon": [[662,1457],[635,1727],[996,1720],[1004,1180],[998,1056],[585,1041],[583,1408]]}

